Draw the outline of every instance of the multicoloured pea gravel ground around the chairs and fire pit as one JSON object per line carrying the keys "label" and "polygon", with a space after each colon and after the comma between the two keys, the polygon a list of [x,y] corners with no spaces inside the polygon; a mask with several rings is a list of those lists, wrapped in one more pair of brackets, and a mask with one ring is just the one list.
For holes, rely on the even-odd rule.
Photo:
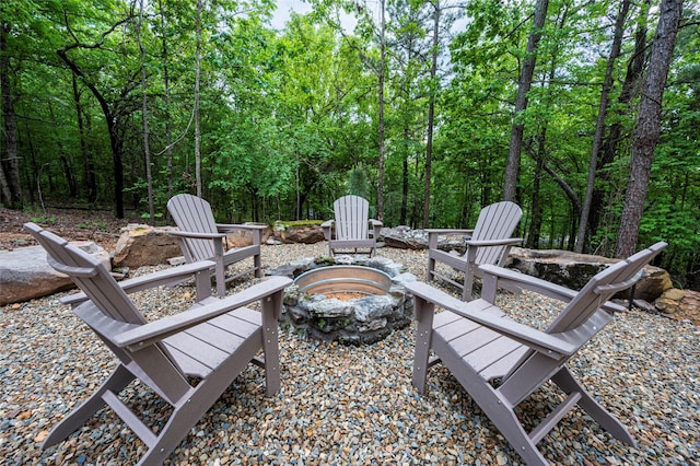
{"label": "multicoloured pea gravel ground around the chairs and fire pit", "polygon": [[[325,244],[264,246],[262,260],[273,268],[326,251]],[[424,277],[422,252],[384,248],[380,255]],[[153,318],[183,308],[191,292],[180,286],[136,300]],[[109,410],[58,445],[39,448],[47,431],[115,366],[96,337],[58,302],[61,295],[0,307],[0,464],[133,464],[143,445]],[[532,293],[503,294],[499,304],[539,327],[560,308]],[[416,393],[413,334],[411,325],[355,348],[282,331],[281,392],[266,398],[262,372],[249,366],[166,463],[520,464],[442,365],[430,370],[427,394]],[[575,408],[539,443],[540,452],[553,464],[700,464],[699,342],[700,330],[689,323],[640,311],[617,315],[570,366],[638,445],[618,442]],[[148,388],[135,384],[125,394],[135,410],[162,423],[167,406]],[[532,426],[560,399],[545,386],[521,405],[521,416]]]}

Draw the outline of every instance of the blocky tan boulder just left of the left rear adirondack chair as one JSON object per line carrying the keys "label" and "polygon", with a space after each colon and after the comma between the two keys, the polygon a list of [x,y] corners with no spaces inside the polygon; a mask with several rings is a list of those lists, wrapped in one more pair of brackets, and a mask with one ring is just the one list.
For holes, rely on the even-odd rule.
{"label": "blocky tan boulder just left of the left rear adirondack chair", "polygon": [[121,229],[112,264],[114,267],[139,268],[168,264],[168,259],[182,256],[171,226],[150,226],[129,223]]}

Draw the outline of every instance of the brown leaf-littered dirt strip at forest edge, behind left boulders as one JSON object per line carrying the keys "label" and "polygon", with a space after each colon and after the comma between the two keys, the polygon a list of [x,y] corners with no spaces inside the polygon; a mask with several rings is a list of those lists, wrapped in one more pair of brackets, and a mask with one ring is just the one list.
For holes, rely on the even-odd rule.
{"label": "brown leaf-littered dirt strip at forest edge, behind left boulders", "polygon": [[44,213],[0,208],[0,249],[36,245],[23,228],[26,222],[35,222],[69,241],[94,241],[108,252],[115,249],[121,228],[143,223],[138,218],[115,219],[110,211],[51,208]]}

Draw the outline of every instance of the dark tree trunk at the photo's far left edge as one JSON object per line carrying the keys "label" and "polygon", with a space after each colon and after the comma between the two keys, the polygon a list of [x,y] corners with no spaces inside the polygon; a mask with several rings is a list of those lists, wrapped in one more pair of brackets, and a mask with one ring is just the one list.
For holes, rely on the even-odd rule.
{"label": "dark tree trunk at the photo's far left edge", "polygon": [[2,94],[2,120],[4,123],[5,154],[0,154],[0,193],[11,209],[22,209],[22,183],[20,180],[20,159],[18,153],[18,127],[14,118],[10,68],[8,62],[9,25],[0,22],[0,92]]}

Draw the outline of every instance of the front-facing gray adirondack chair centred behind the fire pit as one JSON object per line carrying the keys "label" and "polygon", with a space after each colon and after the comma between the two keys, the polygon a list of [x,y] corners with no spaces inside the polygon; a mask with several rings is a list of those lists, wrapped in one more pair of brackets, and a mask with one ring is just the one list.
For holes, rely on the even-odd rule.
{"label": "front-facing gray adirondack chair centred behind the fire pit", "polygon": [[[373,256],[376,252],[383,223],[370,219],[370,202],[360,196],[343,196],[332,203],[334,220],[322,223],[328,241],[328,253],[362,253]],[[370,228],[370,225],[372,228]],[[332,231],[335,228],[335,237]],[[362,249],[362,251],[360,251]],[[365,251],[366,249],[366,251]]]}

